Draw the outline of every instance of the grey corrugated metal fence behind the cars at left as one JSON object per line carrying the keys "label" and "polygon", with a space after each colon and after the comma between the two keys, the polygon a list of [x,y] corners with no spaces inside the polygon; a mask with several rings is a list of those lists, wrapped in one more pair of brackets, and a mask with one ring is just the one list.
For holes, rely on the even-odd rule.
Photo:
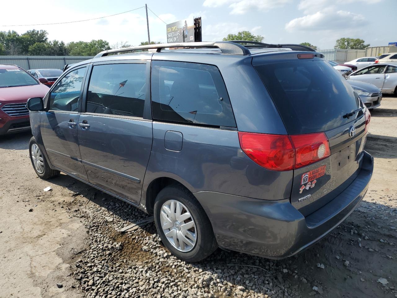
{"label": "grey corrugated metal fence behind the cars at left", "polygon": [[65,64],[88,60],[94,56],[0,56],[0,64],[16,64],[25,70],[39,68],[63,69]]}

